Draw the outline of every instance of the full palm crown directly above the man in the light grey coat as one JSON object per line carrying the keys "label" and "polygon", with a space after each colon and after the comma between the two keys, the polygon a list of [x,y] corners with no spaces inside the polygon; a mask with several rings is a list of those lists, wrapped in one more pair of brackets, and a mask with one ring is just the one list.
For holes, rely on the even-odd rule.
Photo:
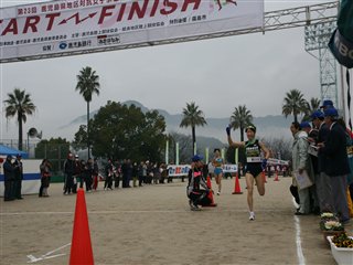
{"label": "full palm crown directly above the man in the light grey coat", "polygon": [[308,102],[303,98],[303,95],[298,89],[291,89],[286,93],[282,114],[287,118],[288,115],[295,116],[295,121],[298,121],[298,115],[306,112]]}

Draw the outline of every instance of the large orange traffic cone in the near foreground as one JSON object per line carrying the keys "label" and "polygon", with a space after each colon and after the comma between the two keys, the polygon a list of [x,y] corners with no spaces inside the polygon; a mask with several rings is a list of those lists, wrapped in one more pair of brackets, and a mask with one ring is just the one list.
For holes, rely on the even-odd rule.
{"label": "large orange traffic cone in the near foreground", "polygon": [[77,191],[73,240],[71,244],[69,265],[94,264],[85,192]]}

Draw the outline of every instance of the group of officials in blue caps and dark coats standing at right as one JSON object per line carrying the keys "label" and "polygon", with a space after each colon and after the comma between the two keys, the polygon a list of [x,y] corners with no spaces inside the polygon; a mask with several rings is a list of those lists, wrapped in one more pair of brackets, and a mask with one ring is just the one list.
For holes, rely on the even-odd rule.
{"label": "group of officials in blue caps and dark coats standing at right", "polygon": [[[353,135],[331,100],[324,100],[309,121],[292,123],[293,183],[297,215],[331,212],[350,222],[353,199]],[[301,184],[298,178],[307,179]]]}

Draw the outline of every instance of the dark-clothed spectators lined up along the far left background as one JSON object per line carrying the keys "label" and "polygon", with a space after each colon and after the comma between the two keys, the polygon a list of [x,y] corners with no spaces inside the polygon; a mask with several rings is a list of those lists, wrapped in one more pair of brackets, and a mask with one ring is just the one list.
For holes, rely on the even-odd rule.
{"label": "dark-clothed spectators lined up along the far left background", "polygon": [[[2,165],[4,173],[4,201],[23,199],[21,194],[23,180],[22,157],[18,155],[13,160],[9,155]],[[40,198],[47,198],[49,187],[52,177],[52,163],[43,159],[40,165],[41,186]],[[64,186],[63,194],[77,193],[77,189],[84,188],[86,192],[96,191],[99,181],[104,181],[101,188],[107,190],[131,187],[142,187],[143,184],[158,184],[171,182],[165,163],[153,163],[149,160],[140,163],[131,162],[130,159],[114,162],[108,159],[106,166],[99,169],[97,159],[87,161],[79,159],[77,155],[69,152],[64,162]],[[131,186],[132,184],[132,186]]]}

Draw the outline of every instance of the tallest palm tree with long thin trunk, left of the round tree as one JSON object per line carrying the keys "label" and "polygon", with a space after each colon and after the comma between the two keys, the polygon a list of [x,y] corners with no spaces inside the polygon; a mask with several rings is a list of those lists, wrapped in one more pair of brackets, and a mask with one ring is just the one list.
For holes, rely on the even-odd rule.
{"label": "tallest palm tree with long thin trunk, left of the round tree", "polygon": [[93,71],[92,67],[86,66],[79,71],[77,75],[77,85],[76,91],[79,91],[79,94],[83,95],[85,102],[87,103],[87,148],[88,148],[88,158],[90,158],[89,151],[89,103],[92,102],[93,94],[99,95],[99,76],[96,75],[96,71]]}

